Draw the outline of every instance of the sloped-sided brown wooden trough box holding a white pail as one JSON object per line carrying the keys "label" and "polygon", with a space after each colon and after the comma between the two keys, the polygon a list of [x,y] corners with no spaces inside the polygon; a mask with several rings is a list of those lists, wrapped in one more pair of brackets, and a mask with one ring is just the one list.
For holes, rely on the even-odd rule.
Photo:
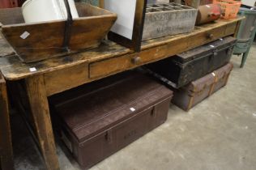
{"label": "sloped-sided brown wooden trough box holding a white pail", "polygon": [[66,20],[24,23],[21,8],[0,10],[2,35],[23,62],[37,62],[98,47],[117,15],[87,3],[76,3],[76,8],[79,19],[73,21],[68,52],[63,48]]}

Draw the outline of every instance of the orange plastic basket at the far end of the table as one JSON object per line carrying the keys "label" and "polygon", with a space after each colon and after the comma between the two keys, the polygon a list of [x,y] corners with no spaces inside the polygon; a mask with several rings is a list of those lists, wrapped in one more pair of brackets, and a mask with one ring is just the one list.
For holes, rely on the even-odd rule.
{"label": "orange plastic basket at the far end of the table", "polygon": [[213,3],[220,4],[222,10],[222,18],[224,19],[236,18],[241,6],[241,1],[234,0],[213,0]]}

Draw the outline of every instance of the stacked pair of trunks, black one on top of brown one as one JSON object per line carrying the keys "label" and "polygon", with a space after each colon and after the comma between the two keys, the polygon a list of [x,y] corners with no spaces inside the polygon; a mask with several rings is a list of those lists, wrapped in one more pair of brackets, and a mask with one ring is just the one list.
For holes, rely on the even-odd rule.
{"label": "stacked pair of trunks, black one on top of brown one", "polygon": [[189,110],[224,87],[233,66],[230,58],[237,40],[231,36],[147,66],[173,91],[173,104]]}

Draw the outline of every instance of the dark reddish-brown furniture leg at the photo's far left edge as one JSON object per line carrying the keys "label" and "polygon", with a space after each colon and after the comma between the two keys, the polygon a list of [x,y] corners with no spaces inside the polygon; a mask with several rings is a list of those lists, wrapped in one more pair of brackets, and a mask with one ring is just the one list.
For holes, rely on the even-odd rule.
{"label": "dark reddish-brown furniture leg at the photo's far left edge", "polygon": [[6,82],[0,74],[0,169],[13,169],[11,125]]}

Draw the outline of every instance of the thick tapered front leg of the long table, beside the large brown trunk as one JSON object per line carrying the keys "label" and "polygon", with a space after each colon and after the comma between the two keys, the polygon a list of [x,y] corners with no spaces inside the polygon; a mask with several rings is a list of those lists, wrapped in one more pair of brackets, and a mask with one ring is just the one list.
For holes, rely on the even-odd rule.
{"label": "thick tapered front leg of the long table, beside the large brown trunk", "polygon": [[33,121],[36,126],[36,135],[46,167],[49,170],[59,169],[44,77],[39,75],[26,79],[26,87]]}

